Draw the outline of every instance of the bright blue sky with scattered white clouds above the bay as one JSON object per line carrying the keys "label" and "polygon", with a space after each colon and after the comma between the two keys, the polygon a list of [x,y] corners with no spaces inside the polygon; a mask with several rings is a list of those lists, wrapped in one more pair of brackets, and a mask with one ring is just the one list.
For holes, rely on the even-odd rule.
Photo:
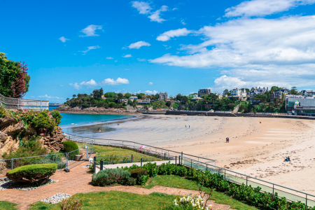
{"label": "bright blue sky with scattered white clouds above the bay", "polygon": [[25,98],[50,102],[99,87],[314,89],[314,3],[2,1],[0,52],[29,64]]}

